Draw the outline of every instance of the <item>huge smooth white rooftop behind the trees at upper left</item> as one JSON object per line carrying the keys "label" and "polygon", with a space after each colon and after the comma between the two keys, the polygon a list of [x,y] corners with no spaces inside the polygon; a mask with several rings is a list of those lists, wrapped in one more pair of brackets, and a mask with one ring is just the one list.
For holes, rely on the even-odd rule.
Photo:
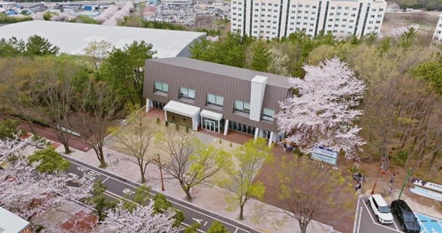
{"label": "huge smooth white rooftop behind the trees at upper left", "polygon": [[48,39],[53,45],[59,46],[59,52],[67,54],[84,54],[84,48],[90,41],[108,41],[117,48],[123,48],[133,41],[144,40],[153,45],[153,50],[157,50],[154,57],[158,58],[186,56],[188,46],[206,35],[203,32],[56,21],[26,21],[0,27],[0,38],[16,37],[26,41],[34,34]]}

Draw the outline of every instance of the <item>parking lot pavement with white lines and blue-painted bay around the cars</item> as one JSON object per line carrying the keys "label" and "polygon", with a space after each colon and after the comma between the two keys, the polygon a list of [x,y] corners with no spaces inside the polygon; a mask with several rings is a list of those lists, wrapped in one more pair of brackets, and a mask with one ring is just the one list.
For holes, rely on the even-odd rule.
{"label": "parking lot pavement with white lines and blue-painted bay around the cars", "polygon": [[[422,233],[442,233],[442,220],[421,213],[415,212],[414,214],[421,225]],[[356,233],[402,232],[396,217],[394,217],[393,224],[380,224],[376,221],[372,208],[367,204],[367,196],[358,199],[354,229]]]}

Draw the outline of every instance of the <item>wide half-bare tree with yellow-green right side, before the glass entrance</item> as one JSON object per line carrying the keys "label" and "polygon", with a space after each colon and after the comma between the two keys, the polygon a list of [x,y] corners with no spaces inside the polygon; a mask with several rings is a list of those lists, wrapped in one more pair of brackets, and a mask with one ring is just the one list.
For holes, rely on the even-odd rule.
{"label": "wide half-bare tree with yellow-green right side, before the glass entrance", "polygon": [[184,130],[169,130],[166,134],[159,134],[157,142],[162,145],[161,150],[169,156],[169,163],[164,166],[166,173],[180,182],[188,201],[192,201],[191,188],[207,181],[231,164],[227,152],[204,145]]}

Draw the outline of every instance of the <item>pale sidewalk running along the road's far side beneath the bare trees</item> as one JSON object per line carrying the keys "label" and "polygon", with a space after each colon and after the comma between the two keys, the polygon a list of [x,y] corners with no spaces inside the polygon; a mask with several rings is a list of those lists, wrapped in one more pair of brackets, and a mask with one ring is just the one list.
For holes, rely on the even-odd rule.
{"label": "pale sidewalk running along the road's far side beneath the bare trees", "polygon": [[[64,152],[63,147],[58,147],[57,151]],[[129,156],[108,148],[104,148],[104,154],[111,154],[109,157],[111,161],[109,161],[106,156],[106,163],[108,163],[106,170],[108,172],[113,172],[126,179],[140,183],[140,169],[135,163],[128,161],[128,159],[130,159]],[[97,156],[93,150],[89,150],[88,152],[75,150],[70,156],[73,156],[73,158],[83,161],[84,163],[89,163],[90,165],[99,165]],[[159,171],[158,167],[153,164],[149,164],[146,169],[147,181],[145,184],[151,186],[151,188],[157,192],[161,192]],[[173,196],[176,199],[185,200],[185,194],[175,179],[164,180],[164,187],[164,194]],[[231,194],[228,190],[223,190],[211,185],[199,185],[191,190],[191,194],[193,196],[193,205],[204,210],[215,212],[228,219],[238,221],[238,223],[247,225],[258,232],[300,232],[298,221],[287,217],[285,214],[279,213],[278,211],[281,210],[272,205],[249,199],[244,206],[244,220],[239,221],[238,208],[232,212],[226,210],[228,204],[225,199]],[[311,221],[307,228],[307,232],[334,232],[334,230],[333,227],[329,225]]]}

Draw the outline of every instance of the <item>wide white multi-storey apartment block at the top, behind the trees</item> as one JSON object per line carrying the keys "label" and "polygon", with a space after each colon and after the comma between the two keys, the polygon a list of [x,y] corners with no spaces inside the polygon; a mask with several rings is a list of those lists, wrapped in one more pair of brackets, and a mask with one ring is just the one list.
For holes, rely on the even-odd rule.
{"label": "wide white multi-storey apartment block at the top, behind the trees", "polygon": [[305,30],[338,39],[381,32],[385,0],[232,0],[231,30],[263,39]]}

